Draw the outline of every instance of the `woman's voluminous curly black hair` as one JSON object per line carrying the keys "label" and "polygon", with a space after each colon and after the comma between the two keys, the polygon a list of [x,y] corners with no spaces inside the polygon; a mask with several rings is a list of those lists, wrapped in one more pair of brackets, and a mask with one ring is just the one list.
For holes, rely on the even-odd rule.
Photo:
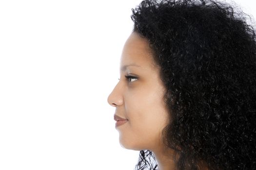
{"label": "woman's voluminous curly black hair", "polygon": [[[132,9],[166,87],[163,130],[178,170],[256,170],[256,34],[215,0],[143,0]],[[156,170],[141,151],[137,170]],[[153,160],[153,161],[152,161]],[[156,162],[155,162],[156,163]]]}

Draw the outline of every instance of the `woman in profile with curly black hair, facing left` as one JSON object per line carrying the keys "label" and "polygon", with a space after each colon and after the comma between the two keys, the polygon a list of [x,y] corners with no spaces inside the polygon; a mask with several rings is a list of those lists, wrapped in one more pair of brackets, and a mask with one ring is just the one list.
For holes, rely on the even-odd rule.
{"label": "woman in profile with curly black hair, facing left", "polygon": [[256,169],[256,35],[213,0],[143,0],[108,102],[137,170]]}

